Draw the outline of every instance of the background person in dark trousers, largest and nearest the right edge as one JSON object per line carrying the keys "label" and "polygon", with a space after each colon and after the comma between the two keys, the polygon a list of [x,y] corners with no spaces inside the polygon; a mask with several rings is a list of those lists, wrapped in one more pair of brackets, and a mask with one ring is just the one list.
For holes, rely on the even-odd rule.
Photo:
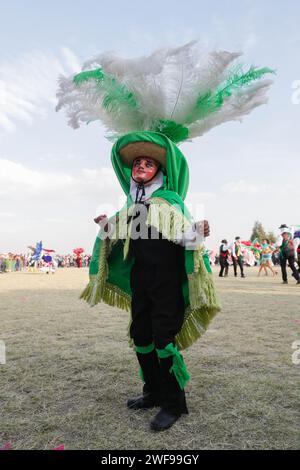
{"label": "background person in dark trousers, largest and nearest the right edge", "polygon": [[292,237],[292,229],[286,224],[282,224],[279,227],[281,230],[282,243],[278,247],[280,253],[280,266],[282,273],[282,284],[288,284],[288,277],[286,271],[286,264],[288,263],[289,267],[292,270],[292,276],[296,279],[297,284],[300,284],[300,275],[295,266],[296,256],[295,256],[295,245]]}

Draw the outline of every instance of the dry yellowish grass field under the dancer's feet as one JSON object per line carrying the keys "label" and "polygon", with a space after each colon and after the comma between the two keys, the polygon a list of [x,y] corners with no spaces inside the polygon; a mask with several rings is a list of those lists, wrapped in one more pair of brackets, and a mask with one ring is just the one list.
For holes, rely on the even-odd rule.
{"label": "dry yellowish grass field under the dancer's feet", "polygon": [[155,410],[126,409],[141,388],[128,315],[78,300],[86,269],[1,274],[0,447],[299,449],[300,287],[230,274],[214,273],[222,313],[184,352],[190,414],[163,434]]}

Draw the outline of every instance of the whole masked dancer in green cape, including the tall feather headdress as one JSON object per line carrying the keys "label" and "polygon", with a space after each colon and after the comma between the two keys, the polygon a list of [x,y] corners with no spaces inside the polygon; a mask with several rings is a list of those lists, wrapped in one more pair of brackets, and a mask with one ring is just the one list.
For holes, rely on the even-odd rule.
{"label": "whole masked dancer in green cape, including the tall feather headdress", "polygon": [[189,173],[176,144],[266,103],[271,82],[265,75],[273,71],[243,71],[234,62],[239,56],[205,55],[192,42],[139,59],[103,54],[80,74],[60,79],[57,109],[67,108],[69,123],[76,128],[100,119],[116,138],[111,159],[127,201],[109,220],[96,219],[102,229],[82,298],[131,311],[130,344],[144,388],[127,405],[159,405],[151,421],[156,431],[187,412],[189,374],[179,350],[219,311],[198,236],[200,226],[206,235],[209,227],[195,224],[184,205]]}

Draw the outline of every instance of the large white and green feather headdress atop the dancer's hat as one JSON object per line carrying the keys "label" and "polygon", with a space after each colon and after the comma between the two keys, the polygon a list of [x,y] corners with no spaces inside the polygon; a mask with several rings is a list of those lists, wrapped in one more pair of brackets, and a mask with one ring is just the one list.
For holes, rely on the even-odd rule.
{"label": "large white and green feather headdress atop the dancer's hat", "polygon": [[99,119],[110,137],[148,130],[183,142],[267,102],[272,81],[265,76],[275,72],[245,71],[240,55],[204,53],[196,41],[137,59],[105,53],[60,77],[56,109],[66,108],[73,128]]}

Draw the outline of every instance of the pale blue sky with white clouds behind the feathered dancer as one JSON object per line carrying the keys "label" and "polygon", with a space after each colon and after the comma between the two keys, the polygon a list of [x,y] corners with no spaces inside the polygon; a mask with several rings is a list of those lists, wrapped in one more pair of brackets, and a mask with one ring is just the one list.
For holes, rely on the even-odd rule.
{"label": "pale blue sky with white clouds behind the feathered dancer", "polygon": [[90,251],[92,218],[122,196],[103,128],[74,131],[55,113],[57,76],[107,50],[135,57],[192,39],[277,70],[267,106],[182,146],[191,198],[211,223],[208,246],[248,238],[257,219],[270,230],[300,223],[300,4],[12,0],[0,11],[0,252],[39,239]]}

